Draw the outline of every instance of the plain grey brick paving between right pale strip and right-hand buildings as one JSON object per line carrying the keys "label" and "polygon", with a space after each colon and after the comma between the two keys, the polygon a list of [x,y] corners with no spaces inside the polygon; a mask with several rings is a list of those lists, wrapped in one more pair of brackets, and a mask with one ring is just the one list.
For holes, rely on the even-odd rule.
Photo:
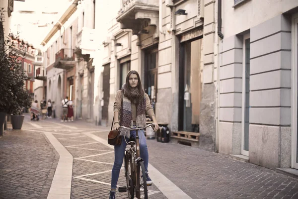
{"label": "plain grey brick paving between right pale strip and right-hand buildings", "polygon": [[148,140],[149,162],[192,199],[298,199],[298,180],[226,155]]}

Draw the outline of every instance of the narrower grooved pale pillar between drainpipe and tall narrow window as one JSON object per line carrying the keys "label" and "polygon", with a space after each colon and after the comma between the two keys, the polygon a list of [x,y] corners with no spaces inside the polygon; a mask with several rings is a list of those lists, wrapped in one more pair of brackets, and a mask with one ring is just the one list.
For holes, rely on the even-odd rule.
{"label": "narrower grooved pale pillar between drainpipe and tall narrow window", "polygon": [[242,36],[224,38],[221,44],[219,152],[241,153]]}

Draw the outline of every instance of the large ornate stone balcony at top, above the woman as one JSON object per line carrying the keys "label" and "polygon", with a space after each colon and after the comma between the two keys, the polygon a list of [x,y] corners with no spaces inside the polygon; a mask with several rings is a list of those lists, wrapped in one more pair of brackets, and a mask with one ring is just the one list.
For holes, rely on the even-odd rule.
{"label": "large ornate stone balcony at top, above the woman", "polygon": [[122,0],[116,20],[122,29],[132,29],[138,34],[144,27],[156,26],[158,31],[159,0]]}

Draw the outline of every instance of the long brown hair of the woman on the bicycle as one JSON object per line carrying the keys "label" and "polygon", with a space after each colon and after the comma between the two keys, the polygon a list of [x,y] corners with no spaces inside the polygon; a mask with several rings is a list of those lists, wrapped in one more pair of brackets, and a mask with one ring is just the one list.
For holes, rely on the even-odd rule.
{"label": "long brown hair of the woman on the bicycle", "polygon": [[[131,74],[136,74],[138,77],[138,85],[137,88],[139,90],[139,95],[137,97],[137,99],[135,97],[133,97],[132,92],[133,92],[133,88],[130,86],[129,84],[129,76]],[[141,78],[140,75],[137,71],[130,71],[128,72],[127,76],[126,76],[126,81],[125,81],[125,90],[128,91],[126,92],[124,95],[129,99],[129,100],[137,100],[138,102],[144,99],[144,90],[142,87],[142,82],[141,82]]]}

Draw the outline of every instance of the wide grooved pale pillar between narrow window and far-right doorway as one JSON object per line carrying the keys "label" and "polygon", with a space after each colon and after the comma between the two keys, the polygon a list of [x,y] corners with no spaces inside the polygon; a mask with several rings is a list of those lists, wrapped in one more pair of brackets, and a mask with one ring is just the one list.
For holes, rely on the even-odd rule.
{"label": "wide grooved pale pillar between narrow window and far-right doorway", "polygon": [[291,48],[282,14],[250,30],[249,161],[268,168],[291,166]]}

